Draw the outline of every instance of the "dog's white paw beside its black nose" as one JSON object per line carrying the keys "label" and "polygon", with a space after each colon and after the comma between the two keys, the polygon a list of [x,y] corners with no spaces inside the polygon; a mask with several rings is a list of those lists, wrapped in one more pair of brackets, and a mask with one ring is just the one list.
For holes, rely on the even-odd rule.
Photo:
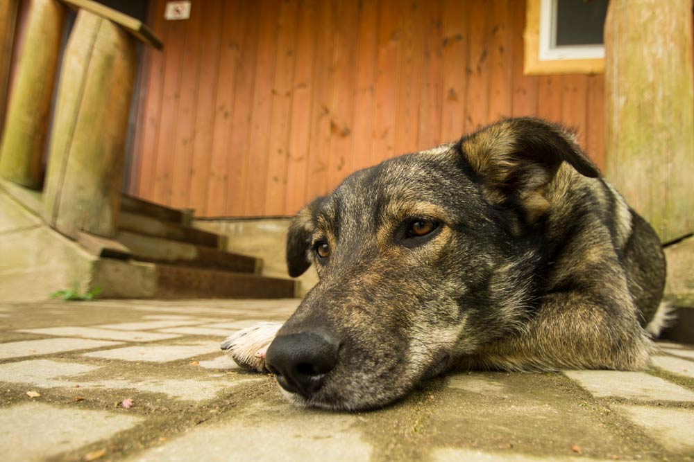
{"label": "dog's white paw beside its black nose", "polygon": [[257,323],[255,326],[239,330],[221,343],[221,349],[243,368],[251,371],[267,372],[265,353],[282,323]]}

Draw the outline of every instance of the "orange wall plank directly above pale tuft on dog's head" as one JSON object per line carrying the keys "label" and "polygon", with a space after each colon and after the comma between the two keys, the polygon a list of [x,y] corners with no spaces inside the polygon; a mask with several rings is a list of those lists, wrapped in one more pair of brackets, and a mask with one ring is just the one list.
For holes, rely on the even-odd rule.
{"label": "orange wall plank directly above pale tuft on dog's head", "polygon": [[424,29],[424,61],[422,89],[419,98],[417,148],[427,149],[441,143],[441,85],[443,84],[443,24],[441,2],[422,3]]}

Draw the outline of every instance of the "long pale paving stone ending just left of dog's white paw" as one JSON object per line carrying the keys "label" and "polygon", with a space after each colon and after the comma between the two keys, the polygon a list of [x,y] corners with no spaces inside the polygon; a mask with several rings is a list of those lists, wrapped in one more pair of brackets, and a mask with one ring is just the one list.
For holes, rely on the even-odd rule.
{"label": "long pale paving stone ending just left of dog's white paw", "polygon": [[128,346],[113,350],[94,351],[83,356],[124,361],[169,362],[219,351],[217,342],[198,342],[190,345]]}

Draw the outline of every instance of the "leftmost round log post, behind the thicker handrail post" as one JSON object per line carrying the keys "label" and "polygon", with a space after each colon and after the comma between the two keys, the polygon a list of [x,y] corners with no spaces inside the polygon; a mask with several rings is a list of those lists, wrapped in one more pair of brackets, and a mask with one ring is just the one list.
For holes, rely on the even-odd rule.
{"label": "leftmost round log post, behind the thicker handrail post", "polygon": [[60,53],[64,7],[32,0],[0,147],[0,175],[40,188],[41,159]]}

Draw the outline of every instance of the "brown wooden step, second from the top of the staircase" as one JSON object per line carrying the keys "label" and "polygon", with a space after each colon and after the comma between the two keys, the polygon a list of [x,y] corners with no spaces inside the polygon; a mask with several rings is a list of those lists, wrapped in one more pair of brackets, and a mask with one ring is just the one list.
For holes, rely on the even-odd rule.
{"label": "brown wooden step, second from the top of the staircase", "polygon": [[178,240],[189,244],[202,245],[218,249],[221,236],[201,229],[191,228],[182,224],[160,220],[156,217],[121,211],[118,227],[121,231],[144,234],[157,238]]}

